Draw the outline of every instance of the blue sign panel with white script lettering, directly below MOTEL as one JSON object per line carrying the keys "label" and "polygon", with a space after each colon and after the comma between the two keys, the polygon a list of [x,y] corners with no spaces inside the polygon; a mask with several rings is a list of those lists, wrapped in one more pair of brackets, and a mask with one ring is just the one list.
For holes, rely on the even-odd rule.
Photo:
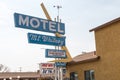
{"label": "blue sign panel with white script lettering, directly below MOTEL", "polygon": [[65,46],[65,37],[55,37],[42,34],[28,33],[28,42],[53,46]]}

